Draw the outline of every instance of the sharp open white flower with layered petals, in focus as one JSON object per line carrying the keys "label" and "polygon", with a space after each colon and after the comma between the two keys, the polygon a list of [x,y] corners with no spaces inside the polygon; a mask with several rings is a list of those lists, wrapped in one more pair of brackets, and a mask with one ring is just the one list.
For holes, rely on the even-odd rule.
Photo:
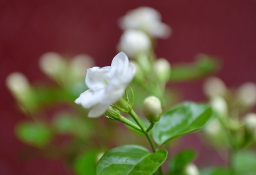
{"label": "sharp open white flower with layered petals, in focus", "polygon": [[106,112],[110,104],[117,102],[126,86],[135,75],[135,67],[129,63],[125,53],[118,53],[111,66],[93,67],[87,70],[85,84],[89,88],[83,92],[75,103],[84,108],[92,108],[88,117],[96,118]]}

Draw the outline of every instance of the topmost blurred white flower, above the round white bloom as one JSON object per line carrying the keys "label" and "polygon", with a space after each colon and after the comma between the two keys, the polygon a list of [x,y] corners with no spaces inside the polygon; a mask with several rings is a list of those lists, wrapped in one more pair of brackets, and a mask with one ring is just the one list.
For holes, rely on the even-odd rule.
{"label": "topmost blurred white flower, above the round white bloom", "polygon": [[152,37],[165,38],[171,33],[171,28],[161,22],[161,15],[152,7],[138,7],[128,11],[119,25],[122,29],[140,29]]}

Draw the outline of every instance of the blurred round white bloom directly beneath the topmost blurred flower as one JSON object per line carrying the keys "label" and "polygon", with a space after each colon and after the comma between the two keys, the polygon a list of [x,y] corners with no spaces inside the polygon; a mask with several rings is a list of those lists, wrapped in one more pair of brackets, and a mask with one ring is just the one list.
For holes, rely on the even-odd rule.
{"label": "blurred round white bloom directly beneath the topmost blurred flower", "polygon": [[143,31],[128,29],[122,34],[117,49],[136,57],[140,53],[148,53],[150,47],[150,38]]}

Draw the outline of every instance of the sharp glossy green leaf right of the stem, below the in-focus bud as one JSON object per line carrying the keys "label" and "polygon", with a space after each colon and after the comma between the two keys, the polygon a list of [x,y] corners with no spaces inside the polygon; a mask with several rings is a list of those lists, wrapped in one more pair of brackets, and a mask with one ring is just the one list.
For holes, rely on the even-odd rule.
{"label": "sharp glossy green leaf right of the stem, below the in-focus bud", "polygon": [[185,102],[162,114],[152,129],[154,141],[165,144],[169,140],[204,127],[212,110],[206,104]]}

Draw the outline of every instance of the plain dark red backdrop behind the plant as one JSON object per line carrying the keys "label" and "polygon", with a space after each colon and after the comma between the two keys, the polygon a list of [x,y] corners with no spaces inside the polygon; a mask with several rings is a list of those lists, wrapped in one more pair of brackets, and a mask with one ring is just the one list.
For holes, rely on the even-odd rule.
{"label": "plain dark red backdrop behind the plant", "polygon": [[[6,76],[20,71],[31,82],[45,80],[38,58],[48,51],[87,53],[98,66],[110,64],[122,33],[117,19],[138,6],[158,9],[173,29],[170,39],[158,42],[159,57],[176,63],[193,61],[197,53],[217,55],[224,63],[218,76],[228,86],[256,82],[255,0],[0,0],[1,175],[67,174],[56,160],[17,158],[24,145],[13,126],[24,116],[5,87]],[[202,81],[179,87],[185,99],[203,99]]]}

